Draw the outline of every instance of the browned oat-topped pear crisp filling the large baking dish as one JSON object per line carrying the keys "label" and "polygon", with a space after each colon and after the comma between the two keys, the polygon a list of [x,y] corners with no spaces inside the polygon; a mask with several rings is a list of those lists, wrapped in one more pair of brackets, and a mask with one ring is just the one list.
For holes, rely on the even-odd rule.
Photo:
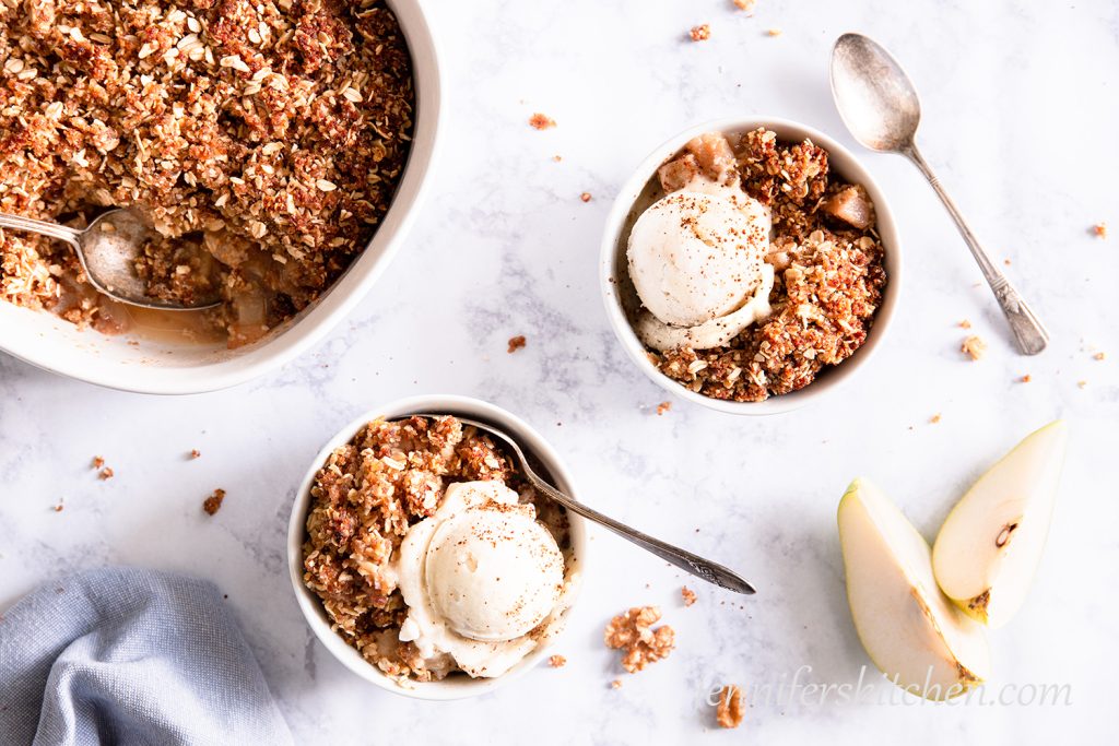
{"label": "browned oat-topped pear crisp filling the large baking dish", "polygon": [[[220,290],[205,325],[253,342],[313,302],[388,210],[414,119],[383,0],[0,0],[0,210],[82,228],[113,207],[159,238],[156,299]],[[105,333],[62,242],[0,232],[0,300]]]}

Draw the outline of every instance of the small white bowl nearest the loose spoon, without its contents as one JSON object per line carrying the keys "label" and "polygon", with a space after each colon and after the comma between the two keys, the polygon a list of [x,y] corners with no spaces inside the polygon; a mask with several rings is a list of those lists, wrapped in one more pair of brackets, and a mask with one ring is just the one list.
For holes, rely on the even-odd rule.
{"label": "small white bowl nearest the loose spoon, without its contents", "polygon": [[[627,306],[636,309],[640,302],[637,300],[636,293],[632,295],[627,294],[628,292],[632,292],[632,289],[628,282],[621,282],[620,278],[626,277],[628,272],[626,263],[626,245],[629,239],[628,228],[638,214],[647,207],[647,205],[639,205],[639,198],[642,197],[646,187],[656,176],[657,169],[676,155],[688,140],[692,140],[696,135],[705,132],[737,134],[755,130],[760,126],[773,130],[777,132],[778,138],[784,141],[800,142],[805,138],[810,139],[814,143],[828,151],[828,162],[835,173],[838,173],[852,183],[861,183],[866,188],[871,195],[871,199],[874,200],[877,230],[886,252],[886,287],[882,305],[878,308],[866,341],[850,358],[844,360],[838,366],[824,370],[816,380],[799,391],[771,396],[764,402],[724,402],[685,388],[679,383],[660,372],[649,360],[646,355],[646,348],[641,343],[641,340],[638,339],[627,315]],[[648,197],[648,192],[646,197]],[[822,132],[797,122],[772,116],[720,120],[717,122],[700,124],[686,132],[681,132],[652,151],[637,168],[637,171],[634,171],[633,176],[630,177],[629,181],[626,182],[614,199],[613,208],[606,218],[600,263],[600,282],[603,300],[606,304],[606,315],[610,317],[610,323],[613,325],[619,341],[629,357],[637,363],[638,368],[669,394],[675,394],[688,402],[717,409],[718,412],[735,415],[772,415],[791,412],[809,402],[819,399],[830,391],[835,391],[841,384],[849,380],[856,370],[867,363],[875,349],[882,343],[897,305],[897,296],[901,292],[901,277],[902,259],[897,226],[894,223],[894,216],[890,210],[885,195],[882,193],[882,189],[869,171],[858,162],[850,151]]]}

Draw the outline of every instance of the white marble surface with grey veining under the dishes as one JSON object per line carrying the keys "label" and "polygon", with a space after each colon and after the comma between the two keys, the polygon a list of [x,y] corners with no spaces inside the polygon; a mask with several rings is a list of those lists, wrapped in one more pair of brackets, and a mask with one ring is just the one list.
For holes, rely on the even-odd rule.
{"label": "white marble surface with grey veining under the dishes", "polygon": [[[760,0],[754,18],[730,0],[426,4],[449,92],[433,197],[379,286],[318,349],[237,389],[184,398],[102,390],[0,357],[0,608],[47,578],[109,563],[210,577],[302,743],[679,743],[705,731],[724,743],[1113,739],[1119,306],[1106,277],[1119,273],[1116,4]],[[699,22],[711,40],[685,40]],[[665,397],[619,351],[599,299],[612,192],[655,144],[707,119],[769,113],[854,147],[826,77],[831,41],[852,29],[909,68],[929,160],[990,251],[1013,262],[1052,347],[1036,359],[1014,353],[932,192],[901,159],[867,153],[906,262],[902,306],[874,365],[794,414],[737,419],[678,402],[658,417]],[[558,128],[529,129],[536,111]],[[1100,220],[1117,235],[1091,236]],[[979,362],[959,353],[965,318],[990,343]],[[528,347],[509,356],[518,333]],[[1097,361],[1097,350],[1110,357]],[[1016,383],[1024,374],[1032,381]],[[523,415],[568,460],[587,501],[742,569],[760,593],[741,603],[692,584],[699,602],[684,608],[679,573],[599,532],[557,650],[566,668],[452,703],[364,683],[311,639],[284,572],[284,526],[327,437],[360,410],[421,391]],[[868,664],[835,530],[852,476],[877,480],[931,536],[986,464],[1056,416],[1073,428],[1056,520],[1027,605],[990,638],[989,689],[1068,683],[1070,707],[798,693],[754,701],[737,731],[713,729],[713,686],[777,687],[802,665],[802,682],[849,683]],[[194,447],[203,455],[190,462]],[[115,479],[95,479],[93,454]],[[200,502],[216,487],[228,498],[207,518]],[[643,603],[665,608],[679,649],[629,677],[603,648],[602,626]]]}

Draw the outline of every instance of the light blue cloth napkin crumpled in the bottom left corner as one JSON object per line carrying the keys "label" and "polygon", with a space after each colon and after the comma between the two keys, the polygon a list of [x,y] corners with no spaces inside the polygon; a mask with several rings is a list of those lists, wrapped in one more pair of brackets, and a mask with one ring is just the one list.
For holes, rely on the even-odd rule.
{"label": "light blue cloth napkin crumpled in the bottom left corner", "polygon": [[2,614],[0,740],[292,743],[217,587],[138,568],[48,583]]}

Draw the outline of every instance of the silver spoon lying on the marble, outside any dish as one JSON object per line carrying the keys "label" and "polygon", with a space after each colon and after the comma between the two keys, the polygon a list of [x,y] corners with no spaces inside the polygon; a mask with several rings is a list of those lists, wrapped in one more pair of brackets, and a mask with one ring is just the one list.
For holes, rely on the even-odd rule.
{"label": "silver spoon lying on the marble, outside any dish", "polygon": [[921,121],[921,102],[897,60],[862,34],[844,34],[831,49],[831,95],[839,116],[856,140],[871,150],[905,155],[921,170],[979,263],[1010,323],[1018,350],[1023,355],[1044,350],[1049,342],[1045,327],[987,257],[956,204],[918,151],[913,136]]}

